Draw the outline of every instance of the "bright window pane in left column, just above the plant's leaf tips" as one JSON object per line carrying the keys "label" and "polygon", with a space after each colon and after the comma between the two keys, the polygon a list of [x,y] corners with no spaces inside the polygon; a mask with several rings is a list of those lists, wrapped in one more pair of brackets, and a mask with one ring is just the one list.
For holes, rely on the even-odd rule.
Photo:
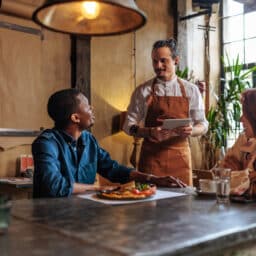
{"label": "bright window pane in left column, just above the plant's leaf tips", "polygon": [[239,55],[240,63],[244,63],[244,43],[243,41],[224,44],[224,57],[228,55],[230,62],[237,58]]}

